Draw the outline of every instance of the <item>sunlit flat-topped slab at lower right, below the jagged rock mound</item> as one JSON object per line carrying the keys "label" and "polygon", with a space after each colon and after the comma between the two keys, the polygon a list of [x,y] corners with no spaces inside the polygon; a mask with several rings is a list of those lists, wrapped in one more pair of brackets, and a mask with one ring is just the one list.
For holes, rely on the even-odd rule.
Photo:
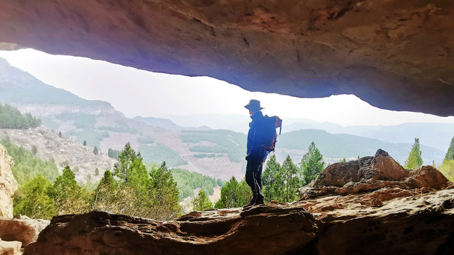
{"label": "sunlit flat-topped slab at lower right, below the jagged rock mound", "polygon": [[[452,254],[454,190],[362,203],[363,196],[301,200],[320,220],[311,254]],[[381,202],[382,201],[382,202]],[[437,253],[438,252],[438,253]]]}

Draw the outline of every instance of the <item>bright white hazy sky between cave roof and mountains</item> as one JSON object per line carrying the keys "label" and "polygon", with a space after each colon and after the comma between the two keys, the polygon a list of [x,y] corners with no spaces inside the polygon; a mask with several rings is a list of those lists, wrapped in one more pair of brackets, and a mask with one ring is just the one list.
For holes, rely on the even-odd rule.
{"label": "bright white hazy sky between cave roof and mountains", "polygon": [[310,118],[344,126],[454,123],[454,117],[381,110],[353,95],[294,98],[250,92],[211,77],[159,74],[84,57],[48,55],[31,49],[0,51],[0,57],[46,84],[82,98],[108,101],[130,118],[193,113],[248,115],[244,106],[254,98],[262,102],[264,113],[268,115]]}

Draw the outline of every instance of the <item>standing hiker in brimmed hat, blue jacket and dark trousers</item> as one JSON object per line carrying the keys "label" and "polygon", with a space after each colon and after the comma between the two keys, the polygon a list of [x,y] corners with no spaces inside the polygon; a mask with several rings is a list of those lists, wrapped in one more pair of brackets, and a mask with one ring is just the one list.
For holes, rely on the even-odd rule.
{"label": "standing hiker in brimmed hat, blue jacket and dark trousers", "polygon": [[248,150],[246,160],[246,183],[250,186],[253,191],[253,198],[250,203],[245,205],[248,208],[253,205],[262,205],[265,203],[262,194],[262,166],[263,162],[267,158],[267,151],[263,145],[265,136],[265,117],[262,114],[262,107],[260,107],[260,101],[250,100],[248,105],[245,106],[249,110],[250,118],[253,120],[249,123],[248,132]]}

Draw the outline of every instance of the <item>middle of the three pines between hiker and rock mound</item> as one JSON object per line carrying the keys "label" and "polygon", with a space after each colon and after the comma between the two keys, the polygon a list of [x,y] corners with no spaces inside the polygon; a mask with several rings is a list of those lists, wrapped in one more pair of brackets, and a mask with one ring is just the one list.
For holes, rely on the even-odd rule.
{"label": "middle of the three pines between hiker and rock mound", "polygon": [[299,187],[301,180],[299,179],[299,171],[297,166],[292,162],[292,158],[287,155],[281,166],[279,172],[279,178],[284,183],[283,194],[279,199],[279,202],[292,202],[299,197]]}

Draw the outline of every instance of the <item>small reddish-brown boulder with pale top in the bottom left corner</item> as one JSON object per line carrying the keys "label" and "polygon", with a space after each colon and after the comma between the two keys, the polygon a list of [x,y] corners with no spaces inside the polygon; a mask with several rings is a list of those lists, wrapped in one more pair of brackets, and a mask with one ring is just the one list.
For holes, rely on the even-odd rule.
{"label": "small reddish-brown boulder with pale top in the bottom left corner", "polygon": [[22,243],[22,246],[27,246],[38,239],[38,234],[49,223],[49,220],[34,220],[21,215],[13,219],[0,218],[0,239],[18,241]]}

